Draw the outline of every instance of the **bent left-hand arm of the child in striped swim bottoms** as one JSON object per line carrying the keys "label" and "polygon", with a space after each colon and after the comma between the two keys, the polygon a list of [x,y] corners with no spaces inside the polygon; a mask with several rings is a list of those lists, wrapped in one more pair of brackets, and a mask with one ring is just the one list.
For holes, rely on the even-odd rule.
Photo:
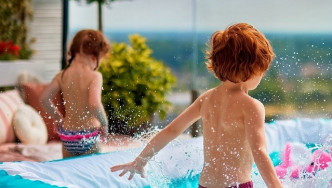
{"label": "bent left-hand arm of the child in striped swim bottoms", "polygon": [[57,74],[52,80],[52,82],[47,86],[47,88],[40,96],[40,100],[47,114],[52,116],[55,122],[61,123],[63,121],[63,117],[52,102],[52,98],[54,97],[54,95],[60,91],[60,85],[58,81],[58,79],[60,78],[59,75],[61,74]]}

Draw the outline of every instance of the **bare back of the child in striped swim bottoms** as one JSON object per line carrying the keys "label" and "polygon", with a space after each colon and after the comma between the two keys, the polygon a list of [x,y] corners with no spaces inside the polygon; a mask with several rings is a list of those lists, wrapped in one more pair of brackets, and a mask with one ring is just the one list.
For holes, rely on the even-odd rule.
{"label": "bare back of the child in striped swim bottoms", "polygon": [[96,74],[100,73],[80,64],[72,64],[62,78],[62,72],[59,73],[66,110],[63,128],[73,131],[100,128],[89,108],[89,89],[96,81]]}

